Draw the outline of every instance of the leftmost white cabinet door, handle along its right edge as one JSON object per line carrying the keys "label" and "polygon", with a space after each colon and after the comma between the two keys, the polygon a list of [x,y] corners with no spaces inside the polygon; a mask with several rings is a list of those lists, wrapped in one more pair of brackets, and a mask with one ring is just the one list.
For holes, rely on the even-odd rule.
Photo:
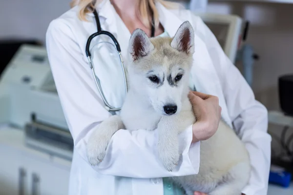
{"label": "leftmost white cabinet door, handle along its right edge", "polygon": [[23,155],[0,144],[0,195],[28,195],[28,173]]}

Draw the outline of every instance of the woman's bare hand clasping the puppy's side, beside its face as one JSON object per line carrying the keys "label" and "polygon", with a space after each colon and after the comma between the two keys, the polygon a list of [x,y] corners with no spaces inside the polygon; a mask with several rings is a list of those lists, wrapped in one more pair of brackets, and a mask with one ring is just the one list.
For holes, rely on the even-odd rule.
{"label": "woman's bare hand clasping the puppy's side, beside its face", "polygon": [[196,116],[196,122],[192,126],[192,142],[206,140],[216,133],[219,126],[222,110],[219,98],[193,91],[189,92],[188,98]]}

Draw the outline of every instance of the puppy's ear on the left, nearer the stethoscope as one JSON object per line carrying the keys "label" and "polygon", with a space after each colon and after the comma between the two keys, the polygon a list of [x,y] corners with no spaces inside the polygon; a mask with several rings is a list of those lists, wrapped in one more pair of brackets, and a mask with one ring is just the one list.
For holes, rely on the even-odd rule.
{"label": "puppy's ear on the left, nearer the stethoscope", "polygon": [[128,45],[128,52],[133,61],[147,56],[153,49],[153,44],[143,30],[136,29],[133,31]]}

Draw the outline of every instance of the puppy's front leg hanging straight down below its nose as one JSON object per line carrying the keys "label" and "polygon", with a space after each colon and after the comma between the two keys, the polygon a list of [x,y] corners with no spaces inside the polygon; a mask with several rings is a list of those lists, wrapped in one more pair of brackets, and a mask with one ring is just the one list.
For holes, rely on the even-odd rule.
{"label": "puppy's front leg hanging straight down below its nose", "polygon": [[179,161],[178,129],[176,118],[162,117],[158,124],[158,153],[168,171],[172,171]]}

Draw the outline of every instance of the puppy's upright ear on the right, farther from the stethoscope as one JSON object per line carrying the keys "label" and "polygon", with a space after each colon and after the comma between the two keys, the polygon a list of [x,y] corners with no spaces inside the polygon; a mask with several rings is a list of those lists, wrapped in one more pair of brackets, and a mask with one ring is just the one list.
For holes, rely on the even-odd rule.
{"label": "puppy's upright ear on the right, farther from the stethoscope", "polygon": [[171,47],[186,54],[194,52],[194,31],[188,21],[183,22],[178,28],[172,42]]}

